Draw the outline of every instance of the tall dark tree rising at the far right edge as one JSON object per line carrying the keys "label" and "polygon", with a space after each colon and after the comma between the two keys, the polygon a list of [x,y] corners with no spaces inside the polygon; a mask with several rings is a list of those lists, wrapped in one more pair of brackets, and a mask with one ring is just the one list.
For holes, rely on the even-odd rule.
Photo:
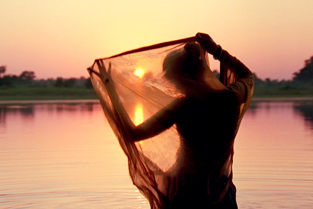
{"label": "tall dark tree rising at the far right edge", "polygon": [[313,56],[305,61],[305,67],[293,73],[293,81],[313,85]]}

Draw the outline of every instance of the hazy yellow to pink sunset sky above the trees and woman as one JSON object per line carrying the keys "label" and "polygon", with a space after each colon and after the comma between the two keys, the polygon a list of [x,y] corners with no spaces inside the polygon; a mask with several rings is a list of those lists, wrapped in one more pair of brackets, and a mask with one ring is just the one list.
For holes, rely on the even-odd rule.
{"label": "hazy yellow to pink sunset sky above the trees and woman", "polygon": [[197,32],[263,79],[291,79],[313,55],[312,0],[1,0],[0,8],[9,74],[87,77],[95,58]]}

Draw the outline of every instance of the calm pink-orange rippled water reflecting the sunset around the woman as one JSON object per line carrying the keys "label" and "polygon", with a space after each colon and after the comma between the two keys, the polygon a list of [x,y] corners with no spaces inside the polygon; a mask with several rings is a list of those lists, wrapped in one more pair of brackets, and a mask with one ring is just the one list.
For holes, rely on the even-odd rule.
{"label": "calm pink-orange rippled water reflecting the sunset around the woman", "polygon": [[[313,207],[313,102],[251,105],[239,208]],[[149,208],[98,103],[0,105],[0,208]]]}

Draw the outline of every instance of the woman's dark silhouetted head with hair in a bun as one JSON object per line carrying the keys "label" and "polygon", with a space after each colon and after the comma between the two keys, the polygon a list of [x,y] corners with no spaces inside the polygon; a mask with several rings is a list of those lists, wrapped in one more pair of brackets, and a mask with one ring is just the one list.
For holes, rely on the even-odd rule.
{"label": "woman's dark silhouetted head with hair in a bun", "polygon": [[199,80],[203,78],[204,63],[201,59],[201,46],[190,42],[182,49],[169,53],[163,61],[165,77],[175,80]]}

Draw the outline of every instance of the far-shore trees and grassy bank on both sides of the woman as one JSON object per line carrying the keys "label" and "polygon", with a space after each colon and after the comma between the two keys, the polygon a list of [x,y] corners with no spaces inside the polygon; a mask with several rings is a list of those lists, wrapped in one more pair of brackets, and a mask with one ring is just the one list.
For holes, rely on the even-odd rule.
{"label": "far-shore trees and grassy bank on both sides of the woman", "polygon": [[[0,66],[0,100],[4,99],[69,99],[97,98],[90,78],[36,79],[34,71],[22,71],[17,75],[6,74],[6,66]],[[219,78],[217,70],[213,73]],[[262,80],[255,74],[255,97],[313,96],[313,56],[305,60],[304,68],[293,73],[292,80]]]}

